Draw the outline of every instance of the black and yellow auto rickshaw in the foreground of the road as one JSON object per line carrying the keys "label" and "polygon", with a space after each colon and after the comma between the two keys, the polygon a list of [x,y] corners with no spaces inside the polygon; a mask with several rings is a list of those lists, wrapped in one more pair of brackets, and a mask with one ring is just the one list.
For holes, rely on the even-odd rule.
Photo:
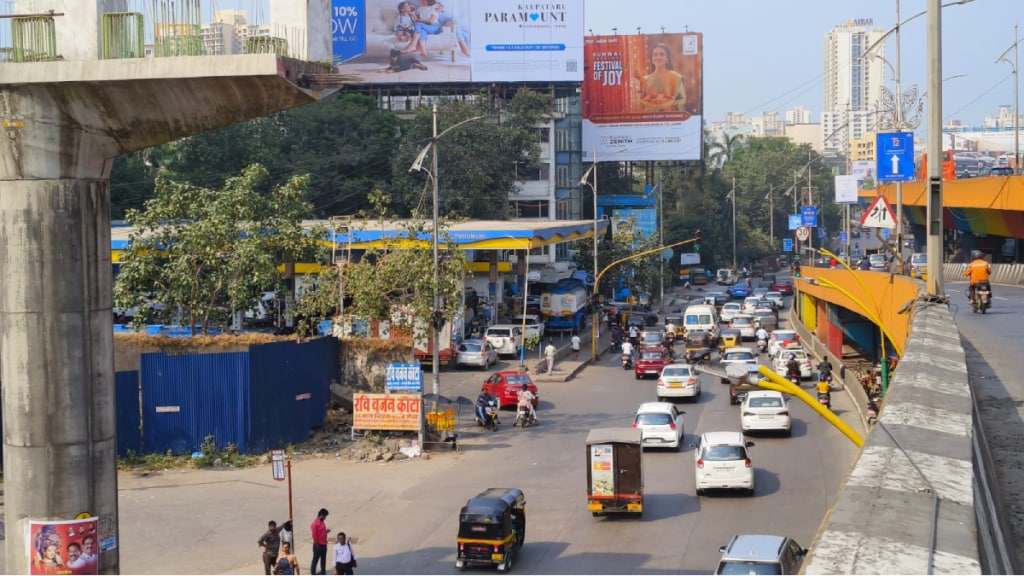
{"label": "black and yellow auto rickshaw in the foreground of the road", "polygon": [[512,570],[526,540],[526,496],[518,488],[488,488],[470,498],[459,511],[455,567],[497,565]]}

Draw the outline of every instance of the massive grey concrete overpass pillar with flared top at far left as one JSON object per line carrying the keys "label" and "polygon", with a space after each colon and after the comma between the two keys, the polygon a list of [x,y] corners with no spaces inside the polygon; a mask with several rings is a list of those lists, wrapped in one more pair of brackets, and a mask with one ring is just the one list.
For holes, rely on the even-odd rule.
{"label": "massive grey concrete overpass pillar with flared top at far left", "polygon": [[0,64],[8,573],[29,573],[30,521],[83,513],[114,544],[99,573],[121,571],[113,158],[314,101],[296,82],[322,68],[274,54]]}

